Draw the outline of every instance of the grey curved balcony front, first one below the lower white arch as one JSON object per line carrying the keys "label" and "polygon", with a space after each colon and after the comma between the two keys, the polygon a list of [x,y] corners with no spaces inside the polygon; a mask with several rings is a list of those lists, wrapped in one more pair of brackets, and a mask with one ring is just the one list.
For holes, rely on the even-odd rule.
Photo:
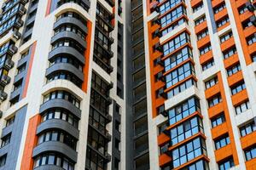
{"label": "grey curved balcony front, first one below the lower white arch", "polygon": [[40,113],[53,108],[62,108],[73,113],[74,116],[81,118],[81,110],[66,99],[51,99],[40,106]]}

